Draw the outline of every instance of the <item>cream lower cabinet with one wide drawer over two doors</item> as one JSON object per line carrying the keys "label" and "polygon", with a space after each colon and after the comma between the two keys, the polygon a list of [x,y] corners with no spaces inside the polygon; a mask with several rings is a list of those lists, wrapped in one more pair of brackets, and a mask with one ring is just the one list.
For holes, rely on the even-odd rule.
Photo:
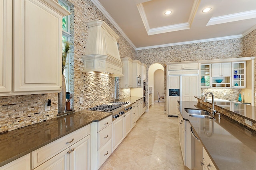
{"label": "cream lower cabinet with one wide drawer over two doors", "polygon": [[90,170],[90,125],[31,152],[32,169]]}

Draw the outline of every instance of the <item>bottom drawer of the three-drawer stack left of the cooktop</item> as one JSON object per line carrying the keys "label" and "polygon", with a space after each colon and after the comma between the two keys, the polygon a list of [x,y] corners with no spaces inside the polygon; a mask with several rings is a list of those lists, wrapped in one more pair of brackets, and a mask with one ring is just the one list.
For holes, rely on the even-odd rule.
{"label": "bottom drawer of the three-drawer stack left of the cooktop", "polygon": [[100,150],[98,150],[98,169],[112,153],[112,144],[109,140]]}

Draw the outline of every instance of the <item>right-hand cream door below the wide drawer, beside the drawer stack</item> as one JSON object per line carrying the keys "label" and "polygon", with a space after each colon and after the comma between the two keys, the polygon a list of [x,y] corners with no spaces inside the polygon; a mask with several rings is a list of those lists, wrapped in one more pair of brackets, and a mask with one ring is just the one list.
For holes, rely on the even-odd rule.
{"label": "right-hand cream door below the wide drawer, beside the drawer stack", "polygon": [[70,170],[90,170],[90,135],[72,145],[70,151]]}

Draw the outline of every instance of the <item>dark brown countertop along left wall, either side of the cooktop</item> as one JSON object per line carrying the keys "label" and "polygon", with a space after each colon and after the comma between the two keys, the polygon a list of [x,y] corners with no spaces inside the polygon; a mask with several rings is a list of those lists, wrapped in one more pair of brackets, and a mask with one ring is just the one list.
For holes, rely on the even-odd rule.
{"label": "dark brown countertop along left wall, either side of the cooktop", "polygon": [[[130,97],[119,101],[133,104],[141,98],[143,97]],[[0,167],[110,115],[112,115],[110,112],[82,110],[2,133],[0,135]]]}

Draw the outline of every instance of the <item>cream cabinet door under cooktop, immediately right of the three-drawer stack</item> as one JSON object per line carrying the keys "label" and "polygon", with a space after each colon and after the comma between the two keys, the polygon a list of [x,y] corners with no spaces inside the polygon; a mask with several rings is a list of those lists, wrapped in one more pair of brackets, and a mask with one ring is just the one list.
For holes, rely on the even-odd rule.
{"label": "cream cabinet door under cooktop, immediately right of the three-drawer stack", "polygon": [[112,152],[118,147],[123,139],[123,117],[112,122]]}

